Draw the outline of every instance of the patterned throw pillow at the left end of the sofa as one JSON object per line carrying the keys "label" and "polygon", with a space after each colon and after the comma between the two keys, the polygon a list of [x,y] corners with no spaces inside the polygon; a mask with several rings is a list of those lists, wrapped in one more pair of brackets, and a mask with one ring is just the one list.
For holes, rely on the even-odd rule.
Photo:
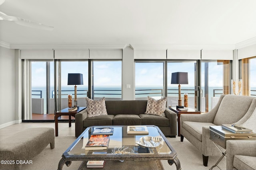
{"label": "patterned throw pillow at the left end of the sofa", "polygon": [[107,115],[105,98],[100,100],[92,100],[89,98],[85,98],[88,115],[87,117],[94,117],[99,115]]}

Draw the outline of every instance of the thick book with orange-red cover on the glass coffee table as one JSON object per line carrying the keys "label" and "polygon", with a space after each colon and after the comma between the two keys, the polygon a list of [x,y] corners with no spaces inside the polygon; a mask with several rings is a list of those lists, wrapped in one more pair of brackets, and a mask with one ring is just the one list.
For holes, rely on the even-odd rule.
{"label": "thick book with orange-red cover on the glass coffee table", "polygon": [[91,135],[85,150],[103,150],[108,148],[109,135]]}

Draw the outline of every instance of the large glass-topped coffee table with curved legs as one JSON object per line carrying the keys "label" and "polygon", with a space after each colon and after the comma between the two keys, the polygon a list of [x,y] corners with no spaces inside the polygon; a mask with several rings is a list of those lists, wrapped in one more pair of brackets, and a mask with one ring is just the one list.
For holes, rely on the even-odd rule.
{"label": "large glass-topped coffee table with curved legs", "polygon": [[[105,150],[85,150],[84,146],[88,142],[90,135],[95,128],[113,127],[114,133],[110,135],[108,149]],[[176,165],[180,170],[180,161],[176,151],[170,145],[162,131],[154,125],[147,125],[148,135],[128,135],[127,126],[91,126],[88,127],[62,154],[58,164],[58,170],[62,170],[64,164],[70,166],[72,161],[83,161],[80,170],[86,170],[88,160],[106,160],[103,170],[111,169],[128,169],[142,170],[163,169],[160,160],[167,160],[170,165]],[[143,138],[142,138],[143,137]],[[141,143],[142,139],[160,139],[160,142]],[[138,145],[139,143],[140,145]],[[149,146],[149,147],[145,147]],[[119,168],[118,168],[119,167]],[[95,168],[94,168],[95,169]]]}

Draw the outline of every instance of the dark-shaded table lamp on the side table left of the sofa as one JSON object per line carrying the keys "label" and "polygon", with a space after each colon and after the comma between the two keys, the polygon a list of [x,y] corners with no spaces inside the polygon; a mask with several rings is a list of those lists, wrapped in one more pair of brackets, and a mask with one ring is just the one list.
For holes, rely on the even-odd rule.
{"label": "dark-shaded table lamp on the side table left of the sofa", "polygon": [[75,85],[75,99],[74,107],[77,107],[77,94],[76,94],[76,85],[83,85],[83,74],[80,73],[68,73],[68,85]]}

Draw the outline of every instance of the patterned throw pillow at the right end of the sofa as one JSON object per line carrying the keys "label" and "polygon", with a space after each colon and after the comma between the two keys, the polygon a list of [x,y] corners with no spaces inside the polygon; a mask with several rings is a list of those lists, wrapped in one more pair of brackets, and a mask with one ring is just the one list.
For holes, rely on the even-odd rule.
{"label": "patterned throw pillow at the right end of the sofa", "polygon": [[165,117],[164,111],[166,108],[167,97],[156,100],[148,96],[148,104],[145,114],[158,115]]}

